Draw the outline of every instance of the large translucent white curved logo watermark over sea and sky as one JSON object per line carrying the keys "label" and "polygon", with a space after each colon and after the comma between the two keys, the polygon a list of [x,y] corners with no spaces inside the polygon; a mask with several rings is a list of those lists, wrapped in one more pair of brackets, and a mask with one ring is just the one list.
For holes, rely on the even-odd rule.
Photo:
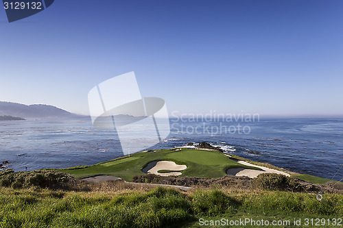
{"label": "large translucent white curved logo watermark over sea and sky", "polygon": [[88,105],[93,126],[113,129],[124,155],[152,147],[170,134],[165,101],[142,97],[133,71],[93,87]]}

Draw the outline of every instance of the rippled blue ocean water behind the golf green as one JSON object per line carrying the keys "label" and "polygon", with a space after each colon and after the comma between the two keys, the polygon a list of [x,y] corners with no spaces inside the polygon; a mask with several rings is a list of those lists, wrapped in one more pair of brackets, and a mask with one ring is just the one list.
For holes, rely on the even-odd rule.
{"label": "rippled blue ocean water behind the golf green", "polygon": [[[227,153],[328,179],[343,164],[342,118],[261,118],[251,122],[171,118],[169,122],[171,134],[151,149],[206,141]],[[132,151],[148,140],[140,132],[130,134],[138,138],[132,140]],[[16,171],[91,165],[123,155],[115,131],[94,129],[88,118],[0,121],[0,136],[0,162],[10,162],[7,168]],[[334,179],[342,178],[343,168]]]}

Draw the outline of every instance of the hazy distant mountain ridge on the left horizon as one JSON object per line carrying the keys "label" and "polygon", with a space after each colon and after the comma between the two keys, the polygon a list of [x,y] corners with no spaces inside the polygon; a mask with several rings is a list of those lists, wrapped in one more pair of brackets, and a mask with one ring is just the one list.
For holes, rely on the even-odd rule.
{"label": "hazy distant mountain ridge on the left horizon", "polygon": [[16,116],[21,118],[82,118],[52,105],[23,105],[0,101],[0,116]]}

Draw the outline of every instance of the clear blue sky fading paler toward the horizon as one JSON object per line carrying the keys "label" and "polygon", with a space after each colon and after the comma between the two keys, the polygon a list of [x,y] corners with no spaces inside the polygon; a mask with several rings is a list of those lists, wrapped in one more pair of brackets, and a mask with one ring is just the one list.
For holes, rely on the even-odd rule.
{"label": "clear blue sky fading paler toward the horizon", "polygon": [[88,113],[134,71],[169,112],[343,114],[343,1],[55,1],[8,23],[0,101]]}

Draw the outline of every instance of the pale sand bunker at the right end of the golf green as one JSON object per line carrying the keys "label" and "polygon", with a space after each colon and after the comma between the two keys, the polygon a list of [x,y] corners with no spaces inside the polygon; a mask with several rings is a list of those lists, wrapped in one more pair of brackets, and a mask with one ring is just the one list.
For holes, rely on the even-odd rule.
{"label": "pale sand bunker at the right end of the golf green", "polygon": [[285,175],[287,177],[290,177],[290,175],[288,173],[285,173],[285,172],[279,171],[279,170],[275,170],[272,168],[267,168],[264,166],[257,166],[255,164],[250,164],[249,162],[244,162],[244,161],[238,161],[238,163],[246,165],[246,166],[254,166],[257,168],[261,168],[261,170],[253,170],[253,169],[248,169],[248,168],[229,168],[227,171],[227,174],[235,175],[237,177],[246,176],[246,177],[250,177],[250,178],[256,178],[261,173],[277,173],[277,174],[281,174],[281,175]]}

